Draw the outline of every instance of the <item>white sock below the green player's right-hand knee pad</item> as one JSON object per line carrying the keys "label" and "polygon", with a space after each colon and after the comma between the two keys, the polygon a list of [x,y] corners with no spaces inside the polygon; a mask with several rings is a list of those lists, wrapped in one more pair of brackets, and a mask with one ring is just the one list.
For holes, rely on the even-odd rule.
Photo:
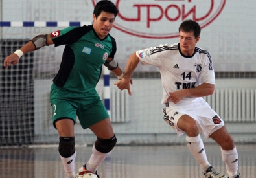
{"label": "white sock below the green player's right-hand knee pad", "polygon": [[101,153],[97,151],[93,144],[93,154],[91,155],[89,161],[86,164],[86,170],[95,172],[98,166],[101,164],[102,161],[104,161],[107,155],[108,153]]}

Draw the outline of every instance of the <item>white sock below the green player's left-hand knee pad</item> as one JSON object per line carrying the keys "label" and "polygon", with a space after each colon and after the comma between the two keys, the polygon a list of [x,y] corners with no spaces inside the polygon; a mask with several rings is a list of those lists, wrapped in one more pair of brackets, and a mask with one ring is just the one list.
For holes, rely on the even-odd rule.
{"label": "white sock below the green player's left-hand knee pad", "polygon": [[60,159],[62,160],[62,164],[64,166],[64,170],[67,173],[67,177],[75,177],[75,159],[76,159],[76,152],[71,157],[62,157],[60,156]]}

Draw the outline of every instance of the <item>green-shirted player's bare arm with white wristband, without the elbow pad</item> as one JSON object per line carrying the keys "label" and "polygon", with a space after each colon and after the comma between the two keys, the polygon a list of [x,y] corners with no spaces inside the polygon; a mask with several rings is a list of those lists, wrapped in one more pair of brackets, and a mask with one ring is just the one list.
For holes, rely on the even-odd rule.
{"label": "green-shirted player's bare arm with white wristband, without the elbow pad", "polygon": [[[27,54],[28,52],[32,52],[36,50],[36,45],[35,43],[33,43],[33,39],[28,43],[26,43],[23,47],[21,47],[21,49],[16,50],[16,52],[14,52],[13,54],[10,54],[5,58],[3,65],[5,66],[6,69],[8,69],[10,65],[16,65],[17,63],[19,63],[19,58],[21,58],[21,56],[23,56],[24,54]],[[34,41],[36,41],[36,39]],[[54,44],[49,34],[47,34],[46,36],[46,41],[47,41],[47,45]]]}

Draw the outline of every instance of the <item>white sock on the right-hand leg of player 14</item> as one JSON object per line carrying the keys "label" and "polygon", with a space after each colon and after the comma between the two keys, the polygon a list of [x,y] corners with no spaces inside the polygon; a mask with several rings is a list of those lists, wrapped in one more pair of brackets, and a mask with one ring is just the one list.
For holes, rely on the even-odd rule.
{"label": "white sock on the right-hand leg of player 14", "polygon": [[237,175],[238,170],[238,154],[237,154],[237,148],[233,148],[233,150],[222,150],[222,160],[226,164],[227,173],[229,177],[234,177]]}

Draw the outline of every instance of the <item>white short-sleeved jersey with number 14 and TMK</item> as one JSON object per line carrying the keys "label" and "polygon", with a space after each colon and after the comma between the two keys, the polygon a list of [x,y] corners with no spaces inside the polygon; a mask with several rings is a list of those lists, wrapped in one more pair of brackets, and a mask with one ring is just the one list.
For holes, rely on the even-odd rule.
{"label": "white short-sleeved jersey with number 14 and TMK", "polygon": [[[180,43],[159,45],[136,52],[142,65],[156,65],[161,73],[163,98],[165,104],[169,92],[195,88],[201,83],[215,84],[215,72],[210,54],[206,50],[195,48],[192,56],[184,56]],[[186,97],[180,104],[202,101],[202,97]]]}

